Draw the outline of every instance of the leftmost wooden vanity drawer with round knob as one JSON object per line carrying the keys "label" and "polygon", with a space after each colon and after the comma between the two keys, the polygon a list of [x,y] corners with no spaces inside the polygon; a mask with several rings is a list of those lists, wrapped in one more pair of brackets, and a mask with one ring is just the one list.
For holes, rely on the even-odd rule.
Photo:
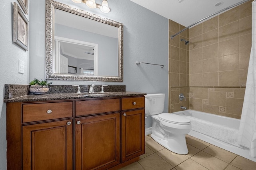
{"label": "leftmost wooden vanity drawer with round knob", "polygon": [[23,123],[72,117],[73,102],[22,104]]}

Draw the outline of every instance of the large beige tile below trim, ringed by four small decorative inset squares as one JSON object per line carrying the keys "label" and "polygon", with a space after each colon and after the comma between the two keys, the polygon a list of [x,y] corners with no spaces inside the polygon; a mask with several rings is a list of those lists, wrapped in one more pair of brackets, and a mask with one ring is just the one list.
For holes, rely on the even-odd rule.
{"label": "large beige tile below trim, ringed by four small decorative inset squares", "polygon": [[226,92],[208,92],[208,104],[214,106],[226,106]]}

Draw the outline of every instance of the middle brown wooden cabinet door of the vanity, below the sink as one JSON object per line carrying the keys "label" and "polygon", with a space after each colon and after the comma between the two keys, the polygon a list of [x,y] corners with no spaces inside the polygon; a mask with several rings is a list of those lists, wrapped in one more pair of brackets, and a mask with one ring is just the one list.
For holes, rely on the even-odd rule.
{"label": "middle brown wooden cabinet door of the vanity, below the sink", "polygon": [[75,169],[108,169],[120,163],[120,113],[75,119]]}

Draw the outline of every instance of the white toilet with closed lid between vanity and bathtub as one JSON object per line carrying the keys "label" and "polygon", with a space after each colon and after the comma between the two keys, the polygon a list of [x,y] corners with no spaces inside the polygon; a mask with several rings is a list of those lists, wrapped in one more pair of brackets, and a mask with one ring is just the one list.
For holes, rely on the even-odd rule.
{"label": "white toilet with closed lid between vanity and bathtub", "polygon": [[190,119],[172,113],[162,113],[165,94],[145,95],[145,114],[152,115],[151,137],[166,149],[177,154],[188,154],[186,134],[192,126]]}

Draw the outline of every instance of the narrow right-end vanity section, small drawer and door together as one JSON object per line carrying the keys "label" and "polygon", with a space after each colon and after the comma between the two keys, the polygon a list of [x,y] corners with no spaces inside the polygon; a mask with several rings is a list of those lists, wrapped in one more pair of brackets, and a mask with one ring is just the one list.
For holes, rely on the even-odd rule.
{"label": "narrow right-end vanity section, small drawer and door together", "polygon": [[145,153],[144,97],[122,98],[122,162]]}

